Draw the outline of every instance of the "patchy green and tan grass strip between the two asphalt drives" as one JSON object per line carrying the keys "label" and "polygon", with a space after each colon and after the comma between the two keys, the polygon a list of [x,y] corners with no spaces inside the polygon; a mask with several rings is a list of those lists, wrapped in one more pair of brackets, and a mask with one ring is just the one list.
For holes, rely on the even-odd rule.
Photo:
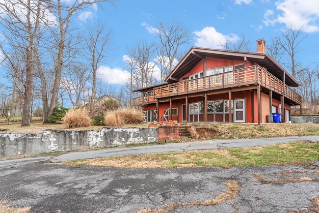
{"label": "patchy green and tan grass strip between the two asphalt drives", "polygon": [[63,165],[91,165],[123,168],[182,168],[206,166],[259,166],[294,164],[319,160],[319,141],[297,141],[252,148],[168,152],[133,156],[66,161]]}

